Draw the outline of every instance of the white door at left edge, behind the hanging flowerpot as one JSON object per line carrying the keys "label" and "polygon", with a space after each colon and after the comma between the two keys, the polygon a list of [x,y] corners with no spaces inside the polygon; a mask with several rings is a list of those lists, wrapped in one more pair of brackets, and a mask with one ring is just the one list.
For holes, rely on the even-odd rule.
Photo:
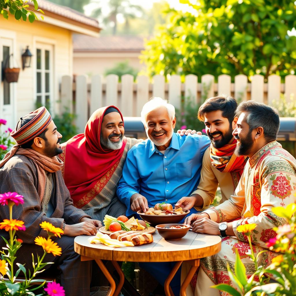
{"label": "white door at left edge, behind the hanging flowerpot", "polygon": [[[15,128],[15,87],[14,83],[8,83],[4,78],[4,67],[13,67],[15,65],[10,65],[12,59],[9,56],[14,52],[13,50],[13,39],[0,38],[0,59],[1,59],[1,87],[0,87],[0,117],[7,120],[6,127]],[[4,78],[4,79],[3,79]]]}

